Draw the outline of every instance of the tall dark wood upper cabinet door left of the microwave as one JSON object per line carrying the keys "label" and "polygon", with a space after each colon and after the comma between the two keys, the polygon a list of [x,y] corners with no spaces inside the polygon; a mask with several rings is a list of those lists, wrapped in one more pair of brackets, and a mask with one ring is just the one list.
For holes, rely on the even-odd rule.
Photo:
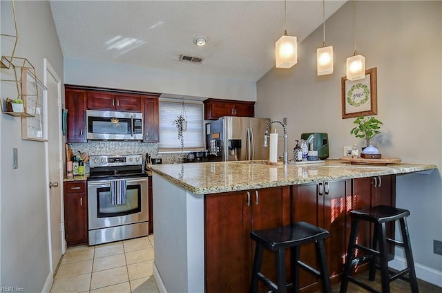
{"label": "tall dark wood upper cabinet door left of the microwave", "polygon": [[66,88],[66,142],[86,142],[86,92]]}

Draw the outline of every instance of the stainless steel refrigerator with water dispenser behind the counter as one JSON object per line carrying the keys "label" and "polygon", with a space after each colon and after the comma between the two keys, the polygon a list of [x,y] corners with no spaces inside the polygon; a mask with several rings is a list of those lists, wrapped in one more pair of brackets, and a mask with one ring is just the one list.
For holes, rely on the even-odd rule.
{"label": "stainless steel refrigerator with water dispenser behind the counter", "polygon": [[206,124],[206,148],[209,160],[268,160],[264,147],[267,118],[221,117]]}

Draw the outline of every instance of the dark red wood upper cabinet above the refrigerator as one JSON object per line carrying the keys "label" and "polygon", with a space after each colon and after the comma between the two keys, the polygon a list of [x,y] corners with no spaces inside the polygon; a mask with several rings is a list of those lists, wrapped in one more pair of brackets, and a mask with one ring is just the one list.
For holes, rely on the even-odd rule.
{"label": "dark red wood upper cabinet above the refrigerator", "polygon": [[222,116],[254,117],[255,102],[204,100],[204,120],[217,120]]}

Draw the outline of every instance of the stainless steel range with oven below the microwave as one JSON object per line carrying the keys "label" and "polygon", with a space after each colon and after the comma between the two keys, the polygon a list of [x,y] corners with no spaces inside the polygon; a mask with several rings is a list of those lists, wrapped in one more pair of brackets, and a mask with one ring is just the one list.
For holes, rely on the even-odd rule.
{"label": "stainless steel range with oven below the microwave", "polygon": [[[89,245],[148,235],[148,180],[142,155],[91,155],[89,162]],[[115,202],[115,190],[111,191],[117,184],[126,186],[122,202]]]}

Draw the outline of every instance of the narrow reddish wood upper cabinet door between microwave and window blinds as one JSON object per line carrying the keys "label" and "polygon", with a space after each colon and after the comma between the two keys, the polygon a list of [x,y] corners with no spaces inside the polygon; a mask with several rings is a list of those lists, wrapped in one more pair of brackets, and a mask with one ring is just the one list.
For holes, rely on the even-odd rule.
{"label": "narrow reddish wood upper cabinet door between microwave and window blinds", "polygon": [[160,141],[160,115],[157,97],[144,97],[144,140]]}

